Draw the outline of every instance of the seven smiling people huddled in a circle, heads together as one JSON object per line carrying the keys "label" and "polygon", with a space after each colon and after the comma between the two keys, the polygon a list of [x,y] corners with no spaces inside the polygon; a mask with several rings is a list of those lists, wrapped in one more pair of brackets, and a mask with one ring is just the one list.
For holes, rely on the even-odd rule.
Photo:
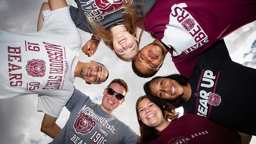
{"label": "seven smiling people huddled in a circle, heads together", "polygon": [[[6,71],[1,73],[1,81],[6,81],[1,86],[1,98],[38,94],[38,111],[45,113],[41,131],[54,138],[52,143],[74,143],[79,135],[82,137],[92,133],[97,122],[100,122],[95,122],[96,118],[93,117],[94,121],[90,117],[93,114],[80,113],[82,105],[85,108],[82,103],[77,109],[79,118],[83,117],[85,123],[78,122],[77,126],[77,123],[72,122],[77,122],[79,118],[71,118],[72,122],[67,121],[71,126],[66,124],[65,130],[55,123],[64,106],[71,112],[76,109],[76,102],[85,99],[90,101],[88,96],[73,87],[75,77],[84,79],[88,84],[99,84],[108,78],[108,70],[103,64],[96,61],[83,63],[77,59],[77,52],[81,47],[88,57],[97,55],[100,41],[103,41],[119,59],[131,62],[133,72],[139,77],[155,76],[168,52],[180,73],[156,76],[144,84],[146,95],[139,97],[136,102],[140,136],[134,140],[128,140],[129,137],[126,136],[127,141],[121,140],[122,143],[135,141],[137,144],[249,144],[252,135],[256,136],[256,124],[248,117],[254,108],[253,82],[256,79],[256,70],[233,62],[223,40],[238,28],[255,21],[254,0],[75,2],[77,8],[67,6],[65,0],[49,0],[49,3],[43,3],[41,7],[38,32],[30,34],[33,38],[30,43],[25,41],[24,47],[26,52],[31,52],[27,55],[38,55],[32,52],[39,51],[45,55],[46,52],[47,60],[41,58],[36,61],[33,58],[29,61],[32,58],[28,58],[25,59],[25,64],[19,66],[24,51],[21,44],[10,45],[8,38],[21,39],[24,43],[24,40],[30,40],[28,37],[23,38],[24,35],[29,34],[5,31],[0,33],[1,46],[6,47],[2,50],[2,61],[7,64],[3,66]],[[81,37],[76,28],[92,34],[92,38],[84,46],[81,46]],[[138,28],[141,29],[140,33]],[[143,31],[149,32],[154,40],[140,49]],[[47,40],[43,40],[43,37]],[[27,56],[22,58],[24,57]],[[22,61],[24,62],[24,59]],[[23,71],[25,74],[22,73],[22,76],[12,73],[24,68],[26,71]],[[34,81],[31,76],[44,78],[44,82],[30,82]],[[11,81],[13,79],[16,81]],[[101,110],[110,115],[124,102],[128,92],[126,82],[121,79],[113,81],[104,89],[102,104],[99,105]],[[24,83],[27,83],[27,86]],[[38,91],[34,91],[37,87],[33,84],[38,83]],[[17,87],[21,90],[17,90]],[[81,98],[78,98],[78,95]],[[92,107],[90,109],[94,110]],[[175,108],[179,107],[183,107],[184,115],[177,118],[179,113],[175,113]],[[70,113],[70,117],[71,115]],[[71,129],[79,135],[72,136],[73,133],[68,131]],[[111,142],[110,137],[108,138],[111,134],[103,131],[100,130],[106,137],[105,142]],[[113,130],[111,131],[113,133]],[[96,131],[94,134],[96,135]],[[66,140],[63,140],[63,137]],[[94,135],[89,138],[91,141],[83,139],[84,142],[96,142],[93,141]],[[104,140],[102,138],[101,142],[104,143]],[[82,143],[81,140],[80,142]],[[116,142],[121,143],[118,140]]]}

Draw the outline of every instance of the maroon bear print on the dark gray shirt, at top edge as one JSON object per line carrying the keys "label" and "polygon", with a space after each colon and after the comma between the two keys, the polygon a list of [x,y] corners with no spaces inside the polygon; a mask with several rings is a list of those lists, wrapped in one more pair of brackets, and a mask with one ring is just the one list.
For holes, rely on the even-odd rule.
{"label": "maroon bear print on the dark gray shirt, at top edge", "polygon": [[113,0],[110,3],[110,0],[95,0],[95,4],[101,11],[101,15],[106,15],[108,13],[112,13],[120,8],[122,8],[124,0]]}

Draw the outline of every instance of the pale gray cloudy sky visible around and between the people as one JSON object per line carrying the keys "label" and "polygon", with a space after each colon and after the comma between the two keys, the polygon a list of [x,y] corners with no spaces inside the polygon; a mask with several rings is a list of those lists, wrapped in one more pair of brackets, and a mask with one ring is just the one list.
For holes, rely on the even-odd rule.
{"label": "pale gray cloudy sky visible around and between the people", "polygon": [[[0,29],[6,31],[35,32],[38,14],[44,0],[0,0]],[[74,5],[72,0],[67,1]],[[81,32],[82,43],[84,44],[91,35]],[[248,24],[227,36],[225,42],[233,61],[256,68],[256,22]],[[144,46],[153,39],[149,34],[144,33],[141,46]],[[149,79],[139,78],[133,72],[130,62],[119,60],[113,52],[103,43],[98,47],[96,54],[90,58],[82,51],[79,53],[82,62],[95,60],[103,63],[109,70],[109,78],[99,85],[87,85],[82,79],[75,80],[76,88],[89,95],[94,102],[101,103],[103,89],[114,78],[121,78],[129,85],[129,93],[123,105],[114,112],[115,115],[135,131],[138,130],[138,123],[135,113],[135,102],[143,95],[143,84]],[[167,54],[163,67],[157,75],[177,73],[174,65]],[[0,142],[3,144],[45,144],[52,141],[44,133],[40,132],[41,121],[44,113],[37,112],[37,96],[29,95],[11,99],[0,100]],[[183,109],[177,109],[182,115]],[[63,127],[68,119],[69,111],[64,108],[57,124]],[[253,136],[251,144],[256,143]]]}

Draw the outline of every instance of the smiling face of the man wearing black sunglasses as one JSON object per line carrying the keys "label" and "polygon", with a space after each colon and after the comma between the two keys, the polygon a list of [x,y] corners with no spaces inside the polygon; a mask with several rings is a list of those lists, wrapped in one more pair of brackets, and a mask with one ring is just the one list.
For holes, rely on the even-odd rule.
{"label": "smiling face of the man wearing black sunglasses", "polygon": [[[110,88],[112,88],[117,93],[120,93],[125,96],[125,88],[118,83],[112,83],[109,85]],[[114,95],[108,95],[107,89],[104,89],[103,92],[103,98],[100,107],[107,112],[108,114],[113,114],[114,110],[121,105],[125,99],[122,99],[121,101],[116,98],[116,94]]]}

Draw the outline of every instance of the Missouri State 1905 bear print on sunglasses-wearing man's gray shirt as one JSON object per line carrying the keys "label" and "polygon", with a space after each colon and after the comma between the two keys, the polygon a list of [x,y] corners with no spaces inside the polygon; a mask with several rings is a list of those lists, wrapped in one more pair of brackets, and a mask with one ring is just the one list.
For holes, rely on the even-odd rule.
{"label": "Missouri State 1905 bear print on sunglasses-wearing man's gray shirt", "polygon": [[69,140],[73,143],[93,142],[97,144],[104,144],[108,141],[107,139],[109,136],[114,135],[116,132],[114,125],[108,124],[106,118],[98,116],[87,105],[81,108],[77,113],[77,118],[74,120],[73,128],[74,130],[69,130],[66,134]]}

